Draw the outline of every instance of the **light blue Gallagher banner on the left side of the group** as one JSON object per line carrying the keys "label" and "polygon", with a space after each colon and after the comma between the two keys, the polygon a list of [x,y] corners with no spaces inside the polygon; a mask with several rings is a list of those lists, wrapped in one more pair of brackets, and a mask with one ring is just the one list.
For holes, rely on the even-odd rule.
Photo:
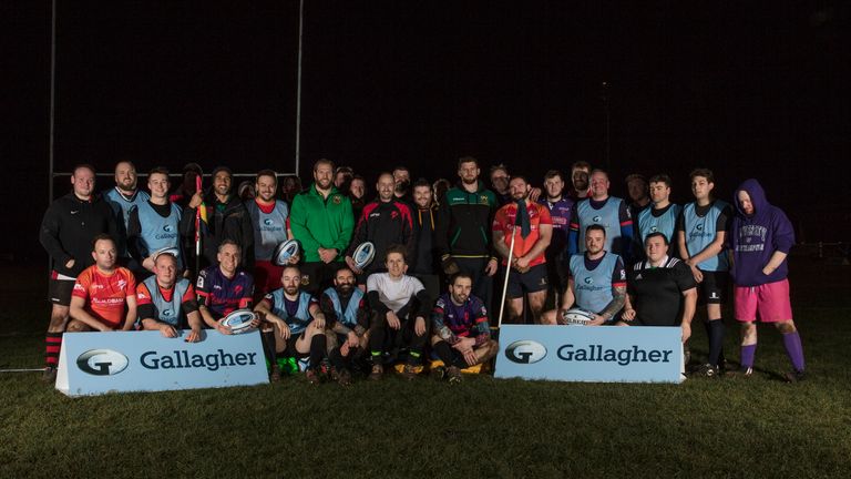
{"label": "light blue Gallagher banner on the left side of the group", "polygon": [[205,330],[201,343],[186,343],[188,333],[176,338],[160,332],[65,334],[57,389],[85,396],[268,383],[259,333]]}

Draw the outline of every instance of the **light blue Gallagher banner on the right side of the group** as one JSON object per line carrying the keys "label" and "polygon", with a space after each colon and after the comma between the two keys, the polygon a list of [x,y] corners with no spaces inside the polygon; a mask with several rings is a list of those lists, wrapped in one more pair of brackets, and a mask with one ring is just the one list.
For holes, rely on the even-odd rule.
{"label": "light blue Gallagher banner on the right side of the group", "polygon": [[678,327],[522,326],[500,328],[498,378],[680,383]]}

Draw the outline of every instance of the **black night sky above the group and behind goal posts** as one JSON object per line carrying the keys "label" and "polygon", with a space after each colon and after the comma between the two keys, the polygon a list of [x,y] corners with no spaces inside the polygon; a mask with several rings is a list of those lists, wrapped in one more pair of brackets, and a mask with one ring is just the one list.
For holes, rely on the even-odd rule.
{"label": "black night sky above the group and behind goal posts", "polygon": [[[57,170],[110,171],[125,154],[141,171],[291,171],[297,0],[58,3]],[[851,221],[847,2],[306,3],[303,176],[320,156],[431,180],[454,177],[463,154],[533,179],[580,159],[604,166],[607,81],[616,194],[628,172],[668,172],[686,200],[686,174],[708,165],[725,197],[759,177],[807,241],[835,238],[826,218]],[[50,2],[3,1],[0,18],[0,157],[27,179],[2,204],[35,196],[16,220],[34,240]],[[803,201],[819,205],[814,218]],[[9,237],[4,252],[41,254]]]}

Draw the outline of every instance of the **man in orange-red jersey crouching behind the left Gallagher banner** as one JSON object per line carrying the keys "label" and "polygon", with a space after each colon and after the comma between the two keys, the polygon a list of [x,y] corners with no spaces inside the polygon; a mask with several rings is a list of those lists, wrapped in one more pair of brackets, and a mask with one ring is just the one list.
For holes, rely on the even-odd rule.
{"label": "man in orange-red jersey crouching behind the left Gallagher banner", "polygon": [[110,235],[99,234],[92,243],[94,264],[76,277],[66,333],[130,330],[136,323],[136,279],[116,265]]}

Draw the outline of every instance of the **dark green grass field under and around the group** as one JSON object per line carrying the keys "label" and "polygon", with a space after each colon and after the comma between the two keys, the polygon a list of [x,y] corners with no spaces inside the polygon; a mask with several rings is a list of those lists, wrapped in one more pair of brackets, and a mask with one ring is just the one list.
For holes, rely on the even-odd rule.
{"label": "dark green grass field under and around the group", "polygon": [[[40,367],[41,275],[6,266],[0,367]],[[468,377],[71,399],[35,373],[0,374],[0,478],[849,477],[851,271],[792,263],[808,378],[760,327],[750,379],[683,385]],[[29,305],[27,307],[22,305]],[[728,323],[728,357],[738,359]],[[693,351],[706,340],[695,328]]]}

